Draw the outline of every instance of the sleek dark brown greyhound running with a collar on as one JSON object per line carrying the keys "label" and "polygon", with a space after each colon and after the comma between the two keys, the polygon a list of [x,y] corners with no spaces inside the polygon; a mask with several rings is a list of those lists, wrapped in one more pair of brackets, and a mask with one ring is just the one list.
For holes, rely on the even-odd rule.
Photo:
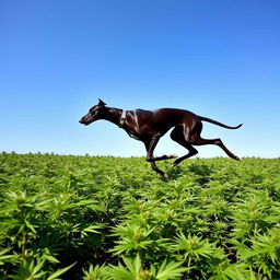
{"label": "sleek dark brown greyhound running with a collar on", "polygon": [[[228,129],[237,129],[236,127],[226,126],[211,118],[198,116],[189,110],[176,108],[160,108],[155,110],[124,110],[113,107],[107,107],[106,103],[98,100],[98,104],[93,106],[90,112],[83,116],[79,122],[85,126],[91,122],[105,119],[120,128],[122,128],[130,137],[140,140],[144,143],[147,150],[147,161],[151,163],[152,170],[168,179],[168,175],[161,171],[156,165],[156,161],[176,159],[172,164],[175,167],[182,161],[195,155],[198,151],[194,145],[215,144],[219,145],[230,158],[240,160],[233,154],[221,141],[221,139],[203,139],[200,137],[202,122],[208,121]],[[173,128],[174,127],[174,128]],[[175,154],[154,156],[153,151],[162,136],[171,128],[171,139],[188,150],[186,155],[178,158]]]}

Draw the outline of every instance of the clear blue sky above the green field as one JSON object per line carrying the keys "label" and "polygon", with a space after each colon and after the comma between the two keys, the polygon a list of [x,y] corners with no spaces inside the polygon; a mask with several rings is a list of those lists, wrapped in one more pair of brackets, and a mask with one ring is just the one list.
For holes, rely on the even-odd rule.
{"label": "clear blue sky above the green field", "polygon": [[[145,155],[113,124],[78,122],[100,97],[243,122],[205,122],[202,136],[278,158],[279,15],[279,0],[1,0],[0,151]],[[166,135],[155,150],[165,152],[185,150]]]}

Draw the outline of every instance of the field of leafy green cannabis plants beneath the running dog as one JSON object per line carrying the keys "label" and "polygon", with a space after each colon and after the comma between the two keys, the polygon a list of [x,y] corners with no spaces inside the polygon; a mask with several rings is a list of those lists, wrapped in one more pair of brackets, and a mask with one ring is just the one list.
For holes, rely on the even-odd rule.
{"label": "field of leafy green cannabis plants beneath the running dog", "polygon": [[0,154],[0,279],[280,279],[280,159]]}

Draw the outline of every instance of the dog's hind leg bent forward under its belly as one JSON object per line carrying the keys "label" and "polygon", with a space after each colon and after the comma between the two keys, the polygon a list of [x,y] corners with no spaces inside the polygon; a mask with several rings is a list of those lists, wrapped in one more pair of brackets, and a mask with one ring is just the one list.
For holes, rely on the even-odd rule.
{"label": "dog's hind leg bent forward under its belly", "polygon": [[179,164],[182,161],[195,155],[198,153],[198,151],[189,143],[187,142],[185,136],[184,136],[184,129],[183,126],[175,127],[171,132],[171,139],[178,144],[185,147],[188,150],[188,153],[186,155],[183,155],[174,161],[172,164],[173,167],[175,167],[177,164]]}

